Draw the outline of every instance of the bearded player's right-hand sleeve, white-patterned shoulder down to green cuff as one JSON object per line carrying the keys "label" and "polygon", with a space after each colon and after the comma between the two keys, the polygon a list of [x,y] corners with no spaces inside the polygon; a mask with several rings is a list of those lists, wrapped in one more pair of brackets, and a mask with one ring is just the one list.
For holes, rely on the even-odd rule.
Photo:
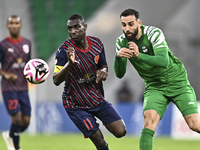
{"label": "bearded player's right-hand sleeve, white-patterned shoulder down to green cuff", "polygon": [[169,65],[169,47],[163,32],[158,28],[150,27],[147,31],[147,36],[150,40],[150,43],[152,44],[155,55],[150,56],[140,53],[138,60],[152,66],[167,68]]}

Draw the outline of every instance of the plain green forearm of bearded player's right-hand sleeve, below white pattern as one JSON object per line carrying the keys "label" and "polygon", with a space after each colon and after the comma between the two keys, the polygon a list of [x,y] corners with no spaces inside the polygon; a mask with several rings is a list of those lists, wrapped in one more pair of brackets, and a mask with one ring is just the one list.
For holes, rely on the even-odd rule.
{"label": "plain green forearm of bearded player's right-hand sleeve, below white pattern", "polygon": [[163,68],[167,68],[169,65],[169,55],[167,50],[158,51],[155,53],[154,56],[140,53],[138,56],[138,60],[148,65],[163,67]]}

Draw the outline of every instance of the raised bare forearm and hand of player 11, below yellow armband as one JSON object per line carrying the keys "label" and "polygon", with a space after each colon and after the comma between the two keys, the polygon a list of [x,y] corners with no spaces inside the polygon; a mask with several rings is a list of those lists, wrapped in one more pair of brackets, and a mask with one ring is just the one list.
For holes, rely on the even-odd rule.
{"label": "raised bare forearm and hand of player 11, below yellow armband", "polygon": [[67,53],[68,62],[65,64],[65,66],[57,73],[53,75],[53,83],[55,85],[60,85],[66,78],[69,73],[69,70],[71,69],[74,61],[75,61],[75,54],[74,54],[74,48],[69,47]]}

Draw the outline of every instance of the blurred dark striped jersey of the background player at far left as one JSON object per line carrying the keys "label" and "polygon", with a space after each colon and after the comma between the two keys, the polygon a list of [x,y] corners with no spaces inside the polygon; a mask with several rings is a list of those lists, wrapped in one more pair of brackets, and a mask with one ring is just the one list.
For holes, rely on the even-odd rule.
{"label": "blurred dark striped jersey of the background player at far left", "polygon": [[[31,55],[31,42],[21,37],[13,41],[9,37],[0,42],[0,61],[2,69],[17,75],[17,80],[8,81],[2,78],[2,91],[27,91],[27,80],[23,75],[23,68],[29,61]],[[28,49],[24,48],[28,46]]]}

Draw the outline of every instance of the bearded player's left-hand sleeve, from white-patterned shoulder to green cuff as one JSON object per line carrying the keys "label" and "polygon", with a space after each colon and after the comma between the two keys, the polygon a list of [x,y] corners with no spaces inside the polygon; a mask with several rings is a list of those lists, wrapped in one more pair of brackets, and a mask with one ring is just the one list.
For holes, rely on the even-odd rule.
{"label": "bearded player's left-hand sleeve, from white-patterned shoulder to green cuff", "polygon": [[117,52],[123,47],[122,37],[120,36],[116,41],[116,54],[114,60],[114,72],[118,78],[122,78],[126,73],[127,58],[117,57]]}

